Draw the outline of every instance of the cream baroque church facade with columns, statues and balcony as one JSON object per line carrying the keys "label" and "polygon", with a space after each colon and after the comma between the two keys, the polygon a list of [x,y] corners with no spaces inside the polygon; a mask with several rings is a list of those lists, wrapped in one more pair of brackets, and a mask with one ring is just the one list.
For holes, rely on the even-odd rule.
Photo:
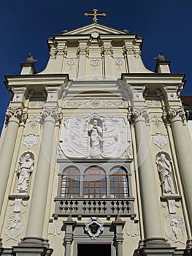
{"label": "cream baroque church facade with columns, statues and balcony", "polygon": [[191,255],[185,75],[142,38],[92,23],[7,75],[0,255]]}

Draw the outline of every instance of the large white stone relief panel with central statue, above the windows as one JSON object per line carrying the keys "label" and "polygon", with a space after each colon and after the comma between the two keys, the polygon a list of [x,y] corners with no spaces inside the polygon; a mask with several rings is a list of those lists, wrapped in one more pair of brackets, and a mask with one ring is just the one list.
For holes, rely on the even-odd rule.
{"label": "large white stone relief panel with central statue, above the windows", "polygon": [[65,118],[59,146],[66,157],[117,158],[131,145],[125,117],[93,114],[85,118]]}

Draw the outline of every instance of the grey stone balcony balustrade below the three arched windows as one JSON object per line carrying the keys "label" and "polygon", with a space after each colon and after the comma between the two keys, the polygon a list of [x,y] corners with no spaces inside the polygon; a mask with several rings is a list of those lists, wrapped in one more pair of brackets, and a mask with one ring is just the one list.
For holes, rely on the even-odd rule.
{"label": "grey stone balcony balustrade below the three arched windows", "polygon": [[134,197],[128,198],[62,198],[55,197],[55,213],[57,216],[73,217],[115,217],[117,215],[134,217]]}

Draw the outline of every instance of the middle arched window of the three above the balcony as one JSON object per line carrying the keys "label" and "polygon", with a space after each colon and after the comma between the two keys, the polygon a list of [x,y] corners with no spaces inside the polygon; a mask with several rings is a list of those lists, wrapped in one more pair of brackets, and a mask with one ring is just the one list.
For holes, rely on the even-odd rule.
{"label": "middle arched window of the three above the balcony", "polygon": [[83,197],[104,198],[107,194],[107,182],[104,170],[91,166],[84,173]]}

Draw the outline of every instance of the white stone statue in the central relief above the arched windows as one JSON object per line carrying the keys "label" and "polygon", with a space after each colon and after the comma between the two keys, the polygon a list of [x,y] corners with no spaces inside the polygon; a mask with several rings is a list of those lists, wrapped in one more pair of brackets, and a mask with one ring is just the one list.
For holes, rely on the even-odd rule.
{"label": "white stone statue in the central relief above the arched windows", "polygon": [[[99,121],[98,119],[93,119],[93,121],[90,121],[88,127],[88,135],[90,136],[90,156],[92,158],[99,157],[103,148],[103,132],[102,127],[99,126]],[[102,125],[102,123],[100,125]]]}

